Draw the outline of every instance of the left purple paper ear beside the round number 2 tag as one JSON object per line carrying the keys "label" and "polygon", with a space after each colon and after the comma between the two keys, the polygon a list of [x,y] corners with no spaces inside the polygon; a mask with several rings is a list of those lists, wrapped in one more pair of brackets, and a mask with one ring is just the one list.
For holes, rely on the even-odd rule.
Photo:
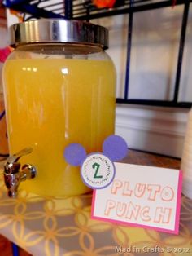
{"label": "left purple paper ear beside the round number 2 tag", "polygon": [[81,166],[86,154],[85,148],[79,143],[71,143],[64,150],[65,161],[72,166]]}

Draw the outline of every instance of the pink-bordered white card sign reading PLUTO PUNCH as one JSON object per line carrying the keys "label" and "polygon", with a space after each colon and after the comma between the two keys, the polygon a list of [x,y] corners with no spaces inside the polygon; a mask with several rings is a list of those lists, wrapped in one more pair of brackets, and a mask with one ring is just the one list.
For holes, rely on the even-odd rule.
{"label": "pink-bordered white card sign reading PLUTO PUNCH", "polygon": [[181,170],[122,163],[115,166],[113,182],[94,191],[91,217],[177,234]]}

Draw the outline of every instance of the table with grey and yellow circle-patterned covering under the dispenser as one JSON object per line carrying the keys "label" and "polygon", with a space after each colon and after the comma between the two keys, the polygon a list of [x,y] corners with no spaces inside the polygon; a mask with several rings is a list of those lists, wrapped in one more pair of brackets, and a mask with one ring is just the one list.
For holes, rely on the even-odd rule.
{"label": "table with grey and yellow circle-patterned covering under the dispenser", "polygon": [[[179,168],[170,157],[129,151],[124,162]],[[192,201],[181,200],[179,235],[90,219],[92,194],[7,198],[0,175],[0,233],[34,256],[192,255]]]}

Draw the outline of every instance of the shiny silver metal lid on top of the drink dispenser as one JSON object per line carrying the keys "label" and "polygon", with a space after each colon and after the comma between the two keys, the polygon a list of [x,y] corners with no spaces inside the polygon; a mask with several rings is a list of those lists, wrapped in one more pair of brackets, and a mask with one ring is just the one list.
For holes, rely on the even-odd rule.
{"label": "shiny silver metal lid on top of the drink dispenser", "polygon": [[30,20],[10,27],[11,46],[35,42],[73,42],[108,48],[108,30],[79,20]]}

